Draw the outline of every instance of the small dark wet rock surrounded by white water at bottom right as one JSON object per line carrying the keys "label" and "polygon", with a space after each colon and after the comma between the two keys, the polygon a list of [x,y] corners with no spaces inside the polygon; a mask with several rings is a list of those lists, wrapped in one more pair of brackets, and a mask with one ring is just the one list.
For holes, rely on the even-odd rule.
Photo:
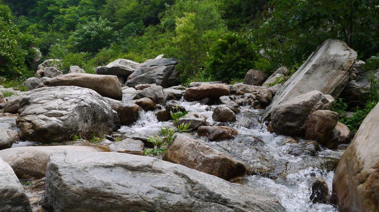
{"label": "small dark wet rock surrounded by white water at bottom right", "polygon": [[312,203],[327,204],[329,200],[329,188],[323,178],[316,178],[312,182],[312,193],[309,197]]}

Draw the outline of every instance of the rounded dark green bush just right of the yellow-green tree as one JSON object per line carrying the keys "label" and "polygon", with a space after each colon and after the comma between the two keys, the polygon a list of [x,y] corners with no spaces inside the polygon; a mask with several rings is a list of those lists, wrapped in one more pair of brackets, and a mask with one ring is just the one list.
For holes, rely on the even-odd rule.
{"label": "rounded dark green bush just right of the yellow-green tree", "polygon": [[211,45],[206,62],[208,74],[215,80],[229,82],[244,78],[257,60],[255,45],[237,33],[227,33]]}

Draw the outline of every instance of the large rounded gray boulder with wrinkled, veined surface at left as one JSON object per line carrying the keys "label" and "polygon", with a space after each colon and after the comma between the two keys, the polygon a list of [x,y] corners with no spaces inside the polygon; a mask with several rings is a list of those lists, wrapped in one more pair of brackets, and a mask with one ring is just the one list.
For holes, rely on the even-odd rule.
{"label": "large rounded gray boulder with wrinkled, veined surface at left", "polygon": [[20,100],[17,126],[22,139],[60,142],[74,135],[90,138],[113,130],[111,106],[95,91],[76,86],[28,91]]}

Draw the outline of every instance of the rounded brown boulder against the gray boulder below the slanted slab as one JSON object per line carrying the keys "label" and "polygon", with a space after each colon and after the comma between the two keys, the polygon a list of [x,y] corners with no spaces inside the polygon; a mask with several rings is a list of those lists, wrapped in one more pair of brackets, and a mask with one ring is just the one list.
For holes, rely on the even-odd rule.
{"label": "rounded brown boulder against the gray boulder below the slanted slab", "polygon": [[305,139],[317,141],[324,145],[330,133],[337,125],[338,113],[330,110],[316,110],[307,119]]}

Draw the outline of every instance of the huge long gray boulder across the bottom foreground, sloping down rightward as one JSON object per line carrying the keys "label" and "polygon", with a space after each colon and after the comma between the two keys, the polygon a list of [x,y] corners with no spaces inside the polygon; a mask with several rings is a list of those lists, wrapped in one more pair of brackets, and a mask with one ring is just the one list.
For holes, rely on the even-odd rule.
{"label": "huge long gray boulder across the bottom foreground, sloping down rightward", "polygon": [[53,153],[45,183],[45,207],[56,212],[284,212],[267,191],[124,153]]}

